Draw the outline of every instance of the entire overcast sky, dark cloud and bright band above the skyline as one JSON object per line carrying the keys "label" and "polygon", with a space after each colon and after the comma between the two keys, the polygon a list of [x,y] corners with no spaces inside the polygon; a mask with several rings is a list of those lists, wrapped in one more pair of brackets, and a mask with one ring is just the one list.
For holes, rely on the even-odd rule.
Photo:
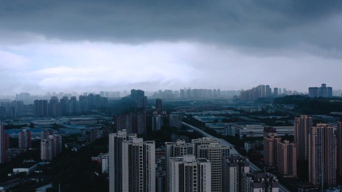
{"label": "entire overcast sky, dark cloud and bright band above the skyline", "polygon": [[341,0],[1,0],[0,95],[342,88]]}

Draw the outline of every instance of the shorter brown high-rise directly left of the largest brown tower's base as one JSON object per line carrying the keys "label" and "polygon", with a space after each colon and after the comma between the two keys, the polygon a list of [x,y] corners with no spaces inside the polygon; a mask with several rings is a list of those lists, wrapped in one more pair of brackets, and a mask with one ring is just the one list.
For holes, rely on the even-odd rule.
{"label": "shorter brown high-rise directly left of the largest brown tower's base", "polygon": [[285,140],[277,143],[277,172],[283,177],[297,177],[297,145]]}

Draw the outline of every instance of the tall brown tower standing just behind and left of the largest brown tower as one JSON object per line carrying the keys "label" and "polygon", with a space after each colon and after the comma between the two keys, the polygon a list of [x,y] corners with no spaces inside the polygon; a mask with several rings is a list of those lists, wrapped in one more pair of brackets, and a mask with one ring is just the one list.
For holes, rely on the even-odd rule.
{"label": "tall brown tower standing just behind and left of the largest brown tower", "polygon": [[312,117],[301,115],[294,118],[294,142],[297,144],[298,160],[308,160],[308,137],[311,126]]}

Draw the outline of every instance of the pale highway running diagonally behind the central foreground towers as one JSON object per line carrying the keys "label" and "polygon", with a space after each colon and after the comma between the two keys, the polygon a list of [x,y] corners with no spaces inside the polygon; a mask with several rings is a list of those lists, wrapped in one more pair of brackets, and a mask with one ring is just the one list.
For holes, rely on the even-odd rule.
{"label": "pale highway running diagonally behind the central foreground towers", "polygon": [[[230,147],[230,154],[231,154],[231,155],[240,155],[240,154],[235,150],[235,146],[232,145],[231,143],[227,142],[226,140],[216,138],[216,137],[214,137],[214,136],[212,136],[212,135],[206,133],[205,131],[203,131],[203,130],[197,128],[197,127],[194,127],[194,126],[192,126],[192,125],[190,125],[190,124],[187,124],[187,123],[185,123],[185,122],[181,122],[181,123],[182,123],[183,125],[185,125],[186,127],[190,128],[190,129],[192,129],[192,130],[194,130],[195,132],[201,134],[201,135],[204,136],[204,137],[211,137],[211,138],[213,138],[213,139],[217,139],[217,140],[220,141],[220,143],[221,143],[222,145],[229,146],[229,147]],[[240,155],[240,156],[241,156],[241,155]],[[251,163],[251,162],[250,162],[250,164],[249,164],[249,168],[250,168],[250,171],[251,171],[251,172],[260,171],[260,168],[258,168],[256,165],[254,165],[254,164]],[[281,184],[279,184],[279,192],[290,192],[290,191],[287,190],[287,189],[286,189],[284,186],[282,186]]]}

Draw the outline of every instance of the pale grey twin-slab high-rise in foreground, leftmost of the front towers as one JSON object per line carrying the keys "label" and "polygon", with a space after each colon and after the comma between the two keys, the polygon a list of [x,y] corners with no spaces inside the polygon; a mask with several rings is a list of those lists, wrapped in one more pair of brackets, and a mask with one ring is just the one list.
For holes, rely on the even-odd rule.
{"label": "pale grey twin-slab high-rise in foreground, leftmost of the front towers", "polygon": [[155,192],[155,144],[125,130],[109,135],[109,192]]}

